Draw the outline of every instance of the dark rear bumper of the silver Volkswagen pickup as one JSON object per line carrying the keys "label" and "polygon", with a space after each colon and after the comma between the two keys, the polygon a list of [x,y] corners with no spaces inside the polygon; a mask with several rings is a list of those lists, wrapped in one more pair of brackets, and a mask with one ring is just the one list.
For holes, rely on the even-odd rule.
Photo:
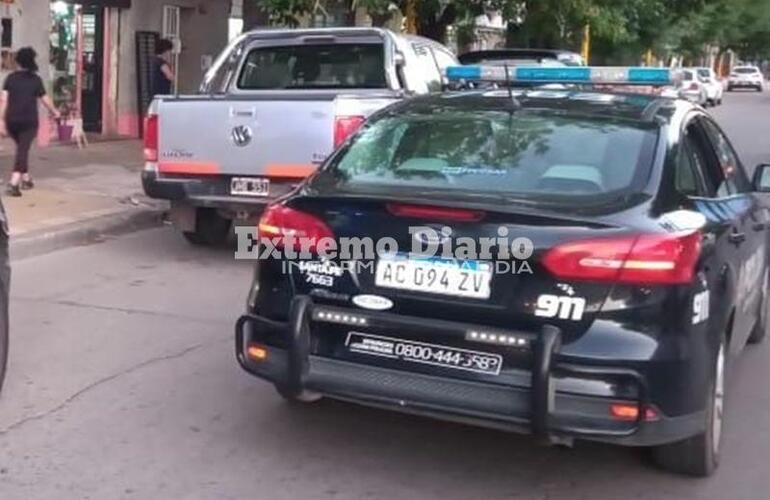
{"label": "dark rear bumper of the silver Volkswagen pickup", "polygon": [[142,171],[142,187],[150,198],[180,202],[195,207],[252,211],[290,193],[301,180],[271,179],[270,196],[246,197],[230,194],[229,175],[159,175]]}

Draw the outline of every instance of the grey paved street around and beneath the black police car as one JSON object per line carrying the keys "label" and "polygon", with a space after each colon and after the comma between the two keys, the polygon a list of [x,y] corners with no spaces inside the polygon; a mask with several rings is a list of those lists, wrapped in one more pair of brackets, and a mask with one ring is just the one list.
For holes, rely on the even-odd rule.
{"label": "grey paved street around and beneath the black police car", "polygon": [[[747,165],[770,160],[770,92],[715,114]],[[767,497],[770,343],[734,367],[722,468],[692,480],[636,450],[289,405],[233,356],[249,278],[169,228],[16,262],[0,499]]]}

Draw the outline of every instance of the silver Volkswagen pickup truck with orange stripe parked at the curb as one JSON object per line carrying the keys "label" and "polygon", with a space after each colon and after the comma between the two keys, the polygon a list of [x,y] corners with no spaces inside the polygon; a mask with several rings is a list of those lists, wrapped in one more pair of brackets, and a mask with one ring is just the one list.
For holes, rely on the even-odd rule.
{"label": "silver Volkswagen pickup truck with orange stripe parked at the curb", "polygon": [[162,96],[145,120],[145,192],[171,201],[192,243],[291,191],[364,120],[440,91],[446,47],[374,28],[262,30],[220,55],[194,96]]}

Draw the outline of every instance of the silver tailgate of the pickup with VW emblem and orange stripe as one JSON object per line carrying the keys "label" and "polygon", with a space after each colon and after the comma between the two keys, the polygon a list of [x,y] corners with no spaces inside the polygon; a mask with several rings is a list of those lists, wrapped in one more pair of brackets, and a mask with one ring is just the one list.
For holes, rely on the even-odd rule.
{"label": "silver tailgate of the pickup with VW emblem and orange stripe", "polygon": [[396,99],[383,90],[163,98],[158,102],[159,170],[305,177],[333,151],[338,117],[367,117]]}

